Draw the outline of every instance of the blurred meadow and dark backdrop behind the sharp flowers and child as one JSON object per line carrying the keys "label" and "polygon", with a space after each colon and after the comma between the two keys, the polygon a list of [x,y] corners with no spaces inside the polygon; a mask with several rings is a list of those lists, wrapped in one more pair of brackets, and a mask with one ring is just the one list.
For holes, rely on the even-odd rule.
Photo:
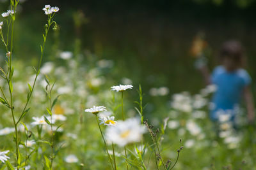
{"label": "blurred meadow and dark backdrop behind the sharp flowers and child", "polygon": [[[0,4],[3,13],[10,1],[0,0]],[[61,95],[54,113],[68,117],[68,123],[56,136],[58,145],[66,142],[56,167],[66,166],[64,157],[76,153],[79,162],[67,165],[67,169],[106,168],[104,150],[99,150],[103,148],[102,141],[93,124],[95,118],[84,113],[84,109],[104,105],[116,120],[120,119],[120,95],[110,87],[132,84],[134,89],[125,92],[124,109],[127,117],[138,117],[134,101],[139,100],[136,90],[141,84],[145,94],[143,106],[147,104],[144,118],[161,131],[168,127],[166,134],[163,132],[164,158],[175,160],[176,149],[180,145],[185,147],[177,169],[256,169],[256,139],[252,135],[255,127],[248,125],[244,107],[239,110],[243,118],[238,118],[241,125],[236,131],[227,120],[220,127],[209,120],[208,106],[214,90],[205,88],[191,50],[195,37],[202,35],[204,55],[212,71],[219,64],[222,43],[228,39],[241,41],[247,56],[245,69],[252,77],[255,96],[256,0],[20,0],[13,52],[13,91],[18,111],[26,102],[27,83],[35,74],[31,66],[36,66],[40,57],[47,22],[42,11],[45,4],[60,8],[54,16],[58,29],[49,31],[47,36],[42,74],[36,82],[31,115],[24,117],[24,122],[30,124],[31,117],[47,114],[44,74],[54,77],[53,96]],[[5,64],[5,53],[0,45],[1,67]],[[0,85],[8,90],[5,82],[0,81]],[[5,106],[0,106],[0,110],[0,127],[12,127],[10,111]],[[10,138],[1,142],[0,148],[6,148],[13,139],[10,132],[5,134]],[[45,132],[45,136],[49,134]],[[46,146],[43,149],[49,152]],[[38,162],[41,164],[42,160]],[[31,166],[38,164],[34,162]]]}

